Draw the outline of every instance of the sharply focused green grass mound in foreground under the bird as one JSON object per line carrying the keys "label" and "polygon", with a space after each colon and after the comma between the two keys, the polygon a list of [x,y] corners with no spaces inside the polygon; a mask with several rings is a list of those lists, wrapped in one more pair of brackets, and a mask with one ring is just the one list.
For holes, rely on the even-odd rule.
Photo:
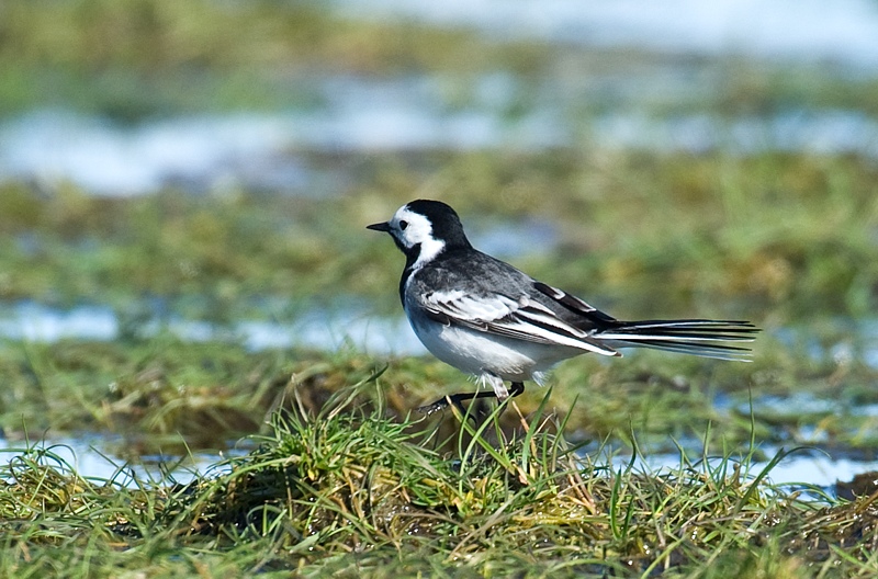
{"label": "sharply focused green grass mound in foreground under the bird", "polygon": [[[356,404],[293,404],[250,454],[191,484],[86,479],[31,449],[0,467],[4,577],[582,574],[848,577],[878,569],[874,497],[809,498],[725,457],[664,473],[529,429],[438,431]],[[511,412],[508,409],[507,412]],[[499,435],[499,439],[496,436]],[[493,442],[488,442],[493,440]],[[451,451],[440,451],[450,446]],[[776,459],[783,456],[778,455]]]}

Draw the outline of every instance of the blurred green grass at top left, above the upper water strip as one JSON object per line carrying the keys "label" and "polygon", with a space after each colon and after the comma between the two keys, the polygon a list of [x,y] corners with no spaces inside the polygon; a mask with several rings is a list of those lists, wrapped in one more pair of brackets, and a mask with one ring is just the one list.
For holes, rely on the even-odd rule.
{"label": "blurred green grass at top left, above the upper water strip", "polygon": [[0,116],[34,106],[122,122],[278,110],[313,102],[306,87],[317,72],[526,72],[547,54],[466,31],[350,21],[308,1],[9,2],[0,18]]}

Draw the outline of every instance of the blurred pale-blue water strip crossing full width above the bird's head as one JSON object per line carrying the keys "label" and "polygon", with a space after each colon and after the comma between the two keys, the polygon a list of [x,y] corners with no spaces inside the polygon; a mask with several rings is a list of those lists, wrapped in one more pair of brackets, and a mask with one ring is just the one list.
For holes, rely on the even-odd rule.
{"label": "blurred pale-blue water strip crossing full width above the bird's head", "polygon": [[610,149],[878,158],[878,123],[849,111],[788,111],[769,118],[732,120],[708,114],[658,118],[628,111],[596,116],[582,129],[562,128],[561,110],[534,111],[515,121],[503,115],[389,105],[177,117],[121,126],[69,112],[41,111],[0,124],[0,181],[70,182],[86,192],[113,196],[167,186],[333,195],[346,189],[350,175],[342,168],[311,166],[305,151],[540,149],[576,143]]}

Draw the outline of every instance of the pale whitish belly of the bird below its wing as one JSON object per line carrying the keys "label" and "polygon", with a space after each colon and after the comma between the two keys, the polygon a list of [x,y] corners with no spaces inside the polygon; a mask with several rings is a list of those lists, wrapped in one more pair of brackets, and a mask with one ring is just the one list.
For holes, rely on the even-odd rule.
{"label": "pale whitish belly of the bird below its wing", "polygon": [[558,362],[583,353],[525,340],[488,334],[429,321],[413,323],[415,333],[436,357],[469,374],[491,373],[505,381],[533,379]]}

